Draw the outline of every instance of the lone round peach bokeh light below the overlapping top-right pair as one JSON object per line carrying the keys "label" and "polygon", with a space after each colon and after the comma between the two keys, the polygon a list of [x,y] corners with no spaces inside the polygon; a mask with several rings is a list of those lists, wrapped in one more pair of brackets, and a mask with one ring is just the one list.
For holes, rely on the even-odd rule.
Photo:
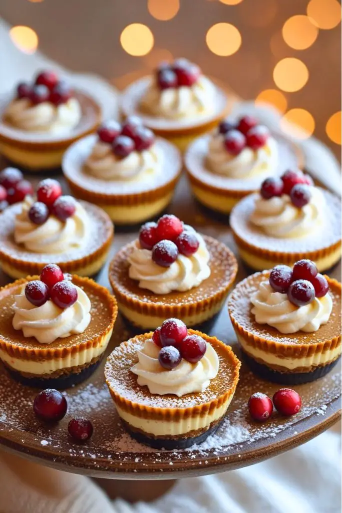
{"label": "lone round peach bokeh light below the overlapping top-right pair", "polygon": [[287,92],[299,91],[309,79],[306,65],[294,57],[286,57],[279,61],[273,70],[275,85]]}

